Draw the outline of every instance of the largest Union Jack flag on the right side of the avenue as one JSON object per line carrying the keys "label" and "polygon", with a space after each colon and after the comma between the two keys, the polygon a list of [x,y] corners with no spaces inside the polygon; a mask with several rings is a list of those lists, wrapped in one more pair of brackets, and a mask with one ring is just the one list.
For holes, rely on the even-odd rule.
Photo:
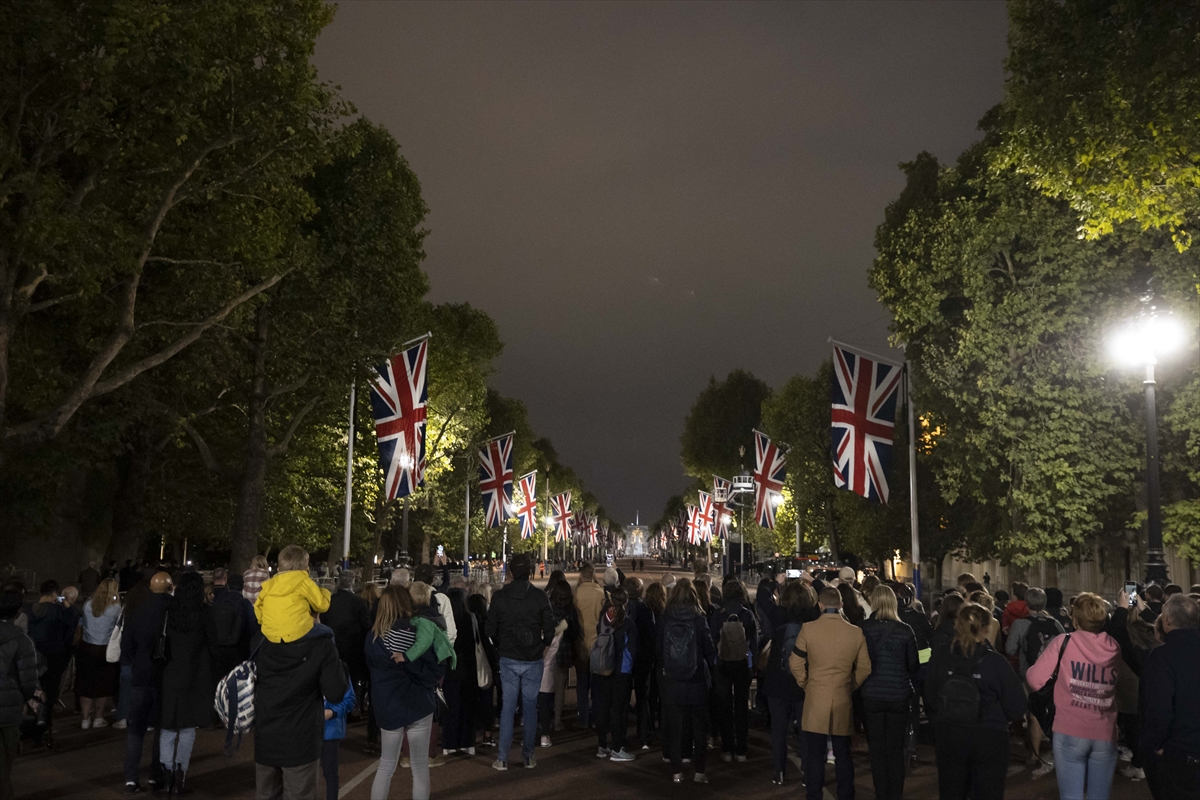
{"label": "largest Union Jack flag on the right side of the avenue", "polygon": [[904,372],[833,348],[833,481],[869,500],[888,501],[888,465],[895,433],[896,396]]}

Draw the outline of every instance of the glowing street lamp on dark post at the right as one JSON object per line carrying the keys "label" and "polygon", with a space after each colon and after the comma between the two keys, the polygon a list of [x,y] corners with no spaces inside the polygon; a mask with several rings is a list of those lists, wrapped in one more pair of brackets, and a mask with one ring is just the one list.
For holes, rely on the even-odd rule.
{"label": "glowing street lamp on dark post at the right", "polygon": [[1141,383],[1146,393],[1146,506],[1150,539],[1146,543],[1146,583],[1166,584],[1163,558],[1163,503],[1158,486],[1158,420],[1154,409],[1154,365],[1187,342],[1187,329],[1170,314],[1150,313],[1116,331],[1109,344],[1114,359],[1128,366],[1146,367]]}

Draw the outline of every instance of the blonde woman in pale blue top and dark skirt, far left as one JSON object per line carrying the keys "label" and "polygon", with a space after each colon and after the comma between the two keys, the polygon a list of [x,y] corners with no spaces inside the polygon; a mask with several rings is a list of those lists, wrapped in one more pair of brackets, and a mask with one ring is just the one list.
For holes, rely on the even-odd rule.
{"label": "blonde woman in pale blue top and dark skirt, far left", "polygon": [[116,696],[116,684],[121,676],[121,666],[108,663],[106,652],[108,639],[113,636],[121,616],[121,597],[114,578],[102,581],[83,606],[79,625],[83,627],[83,640],[76,655],[76,692],[79,694],[79,706],[83,710],[82,728],[103,728],[108,724],[104,714]]}

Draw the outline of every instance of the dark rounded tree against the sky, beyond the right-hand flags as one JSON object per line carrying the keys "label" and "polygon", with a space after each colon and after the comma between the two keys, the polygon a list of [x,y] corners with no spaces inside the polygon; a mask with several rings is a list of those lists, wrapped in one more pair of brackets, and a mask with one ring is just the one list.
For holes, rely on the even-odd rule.
{"label": "dark rounded tree against the sky, beyond the right-hand flags", "polygon": [[769,393],[767,384],[743,369],[734,369],[722,381],[709,378],[679,438],[684,473],[704,483],[713,475],[733,475],[744,461],[738,456],[739,447],[745,447],[752,461],[752,431]]}

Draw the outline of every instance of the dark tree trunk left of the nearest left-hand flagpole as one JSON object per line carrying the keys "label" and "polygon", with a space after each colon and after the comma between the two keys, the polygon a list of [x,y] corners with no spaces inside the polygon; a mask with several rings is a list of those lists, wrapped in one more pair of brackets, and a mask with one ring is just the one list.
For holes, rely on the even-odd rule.
{"label": "dark tree trunk left of the nearest left-hand flagpole", "polygon": [[239,479],[238,513],[234,516],[229,569],[242,572],[258,552],[266,497],[266,303],[258,307],[254,325],[254,375],[247,408],[246,463]]}

